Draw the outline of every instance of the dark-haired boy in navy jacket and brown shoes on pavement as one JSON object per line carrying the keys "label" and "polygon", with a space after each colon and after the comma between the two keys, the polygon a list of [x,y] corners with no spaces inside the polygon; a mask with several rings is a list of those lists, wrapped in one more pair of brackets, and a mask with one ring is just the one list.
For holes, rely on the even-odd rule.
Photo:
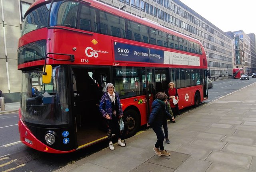
{"label": "dark-haired boy in navy jacket and brown shoes on pavement", "polygon": [[156,133],[157,141],[153,148],[158,156],[170,156],[170,153],[164,150],[164,133],[162,125],[166,116],[172,118],[170,113],[166,111],[166,102],[168,96],[164,93],[159,93],[156,100],[152,103],[152,111],[148,119],[148,126],[151,126]]}

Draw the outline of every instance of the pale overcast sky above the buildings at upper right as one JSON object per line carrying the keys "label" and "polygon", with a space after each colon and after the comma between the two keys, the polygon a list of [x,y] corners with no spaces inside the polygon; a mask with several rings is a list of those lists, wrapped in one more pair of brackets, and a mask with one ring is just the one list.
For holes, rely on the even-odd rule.
{"label": "pale overcast sky above the buildings at upper right", "polygon": [[180,0],[222,31],[256,34],[255,0]]}

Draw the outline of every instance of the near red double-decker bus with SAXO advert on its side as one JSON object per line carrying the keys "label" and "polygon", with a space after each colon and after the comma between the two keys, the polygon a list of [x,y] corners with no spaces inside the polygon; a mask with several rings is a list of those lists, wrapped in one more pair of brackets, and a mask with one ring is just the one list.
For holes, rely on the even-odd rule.
{"label": "near red double-decker bus with SAXO advert on its side", "polygon": [[33,149],[66,153],[106,139],[98,104],[108,82],[128,136],[147,123],[153,93],[169,82],[180,109],[208,98],[206,54],[196,39],[95,0],[38,0],[25,16],[18,127]]}

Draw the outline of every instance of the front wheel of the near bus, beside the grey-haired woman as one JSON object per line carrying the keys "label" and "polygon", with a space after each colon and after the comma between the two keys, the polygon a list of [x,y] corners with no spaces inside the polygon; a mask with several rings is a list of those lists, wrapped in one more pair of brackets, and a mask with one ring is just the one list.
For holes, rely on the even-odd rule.
{"label": "front wheel of the near bus, beside the grey-haired woman", "polygon": [[131,137],[136,134],[140,127],[138,113],[135,110],[129,109],[124,112],[124,120],[127,123],[128,134],[126,137]]}

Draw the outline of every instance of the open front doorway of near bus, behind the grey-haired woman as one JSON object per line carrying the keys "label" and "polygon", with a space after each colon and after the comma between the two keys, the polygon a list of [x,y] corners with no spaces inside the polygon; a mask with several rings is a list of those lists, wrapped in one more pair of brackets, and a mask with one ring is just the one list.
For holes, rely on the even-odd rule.
{"label": "open front doorway of near bus, behind the grey-haired woman", "polygon": [[[99,111],[100,98],[109,81],[109,68],[73,67],[73,113],[78,149],[106,139],[106,125]],[[107,80],[108,78],[108,80]]]}

